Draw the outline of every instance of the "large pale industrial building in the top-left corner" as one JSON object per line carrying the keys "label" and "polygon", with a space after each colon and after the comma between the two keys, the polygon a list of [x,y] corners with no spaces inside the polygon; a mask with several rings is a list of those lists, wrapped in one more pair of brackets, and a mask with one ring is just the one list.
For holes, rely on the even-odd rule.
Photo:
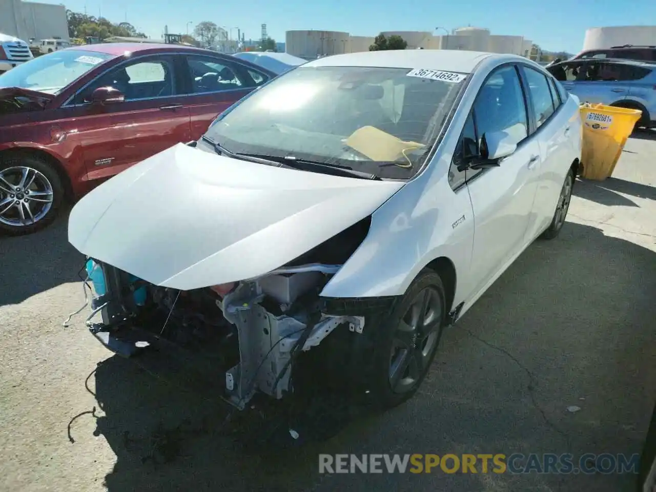
{"label": "large pale industrial building in the top-left corner", "polygon": [[68,38],[66,7],[51,3],[0,0],[0,33],[30,39]]}

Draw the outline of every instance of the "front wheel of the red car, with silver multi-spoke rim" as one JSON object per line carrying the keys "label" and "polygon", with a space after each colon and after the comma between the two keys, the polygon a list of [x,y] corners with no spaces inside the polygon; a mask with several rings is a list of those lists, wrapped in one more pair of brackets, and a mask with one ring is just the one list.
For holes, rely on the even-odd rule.
{"label": "front wheel of the red car, with silver multi-spoke rim", "polygon": [[0,158],[0,233],[32,234],[51,224],[64,201],[59,174],[30,154]]}

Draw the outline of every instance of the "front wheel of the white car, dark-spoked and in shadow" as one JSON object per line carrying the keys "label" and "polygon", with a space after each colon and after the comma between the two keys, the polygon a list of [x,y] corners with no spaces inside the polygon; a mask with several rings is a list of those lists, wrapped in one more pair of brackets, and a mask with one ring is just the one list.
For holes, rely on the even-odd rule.
{"label": "front wheel of the white car, dark-spoked and in shadow", "polygon": [[375,407],[396,407],[417,392],[437,353],[445,319],[440,276],[422,270],[390,312],[365,325],[363,335],[373,346],[365,387]]}

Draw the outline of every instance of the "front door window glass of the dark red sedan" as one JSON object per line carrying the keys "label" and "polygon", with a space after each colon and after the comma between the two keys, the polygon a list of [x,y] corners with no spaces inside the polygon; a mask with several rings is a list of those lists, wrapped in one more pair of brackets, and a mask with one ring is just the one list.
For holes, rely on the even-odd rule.
{"label": "front door window glass of the dark red sedan", "polygon": [[173,63],[169,58],[150,58],[111,68],[75,97],[75,104],[91,101],[98,87],[113,87],[126,101],[146,100],[176,94]]}

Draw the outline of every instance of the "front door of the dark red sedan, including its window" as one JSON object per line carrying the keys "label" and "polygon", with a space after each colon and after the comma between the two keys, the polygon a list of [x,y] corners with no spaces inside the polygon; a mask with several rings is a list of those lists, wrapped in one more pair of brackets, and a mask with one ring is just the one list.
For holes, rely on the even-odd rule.
{"label": "front door of the dark red sedan, including its window", "polygon": [[[91,104],[92,92],[106,86],[123,92],[125,101]],[[79,139],[93,184],[191,140],[188,100],[180,92],[174,56],[142,56],[114,66],[79,91],[73,104],[85,109]]]}

